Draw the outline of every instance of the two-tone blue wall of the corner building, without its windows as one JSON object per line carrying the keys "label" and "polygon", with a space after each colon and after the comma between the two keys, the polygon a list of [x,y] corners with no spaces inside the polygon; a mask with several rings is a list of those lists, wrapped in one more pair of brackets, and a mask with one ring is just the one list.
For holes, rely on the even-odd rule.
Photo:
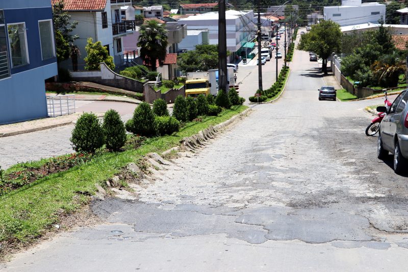
{"label": "two-tone blue wall of the corner building, without its windows", "polygon": [[0,80],[0,125],[46,117],[44,81],[57,75],[57,59],[42,60],[38,21],[52,19],[50,0],[0,0],[0,9],[6,25],[25,22],[30,62],[11,68],[11,77]]}

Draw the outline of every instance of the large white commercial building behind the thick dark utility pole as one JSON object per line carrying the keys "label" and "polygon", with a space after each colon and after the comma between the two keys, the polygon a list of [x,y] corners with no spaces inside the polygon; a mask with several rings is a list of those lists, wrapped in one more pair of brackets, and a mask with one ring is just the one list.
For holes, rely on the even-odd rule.
{"label": "large white commercial building behind the thick dark utility pole", "polygon": [[[227,10],[225,20],[226,46],[231,52],[230,60],[233,61],[242,46],[255,37],[253,11]],[[218,12],[189,16],[179,19],[177,23],[186,24],[187,30],[208,30],[209,44],[218,44]]]}

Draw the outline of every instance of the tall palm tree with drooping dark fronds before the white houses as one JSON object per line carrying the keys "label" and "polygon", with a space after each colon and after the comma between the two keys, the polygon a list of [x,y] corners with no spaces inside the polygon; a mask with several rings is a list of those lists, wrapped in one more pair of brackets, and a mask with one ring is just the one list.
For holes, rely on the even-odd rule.
{"label": "tall palm tree with drooping dark fronds before the white houses", "polygon": [[139,42],[140,57],[147,66],[156,71],[156,62],[163,65],[166,58],[167,35],[161,24],[151,20],[140,27]]}

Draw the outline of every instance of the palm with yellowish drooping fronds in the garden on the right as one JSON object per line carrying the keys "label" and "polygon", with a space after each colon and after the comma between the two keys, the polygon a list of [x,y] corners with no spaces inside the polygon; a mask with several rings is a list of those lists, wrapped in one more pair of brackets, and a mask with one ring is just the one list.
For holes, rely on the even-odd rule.
{"label": "palm with yellowish drooping fronds in the garden on the right", "polygon": [[405,68],[405,61],[395,52],[382,56],[371,66],[373,76],[381,87],[396,87]]}

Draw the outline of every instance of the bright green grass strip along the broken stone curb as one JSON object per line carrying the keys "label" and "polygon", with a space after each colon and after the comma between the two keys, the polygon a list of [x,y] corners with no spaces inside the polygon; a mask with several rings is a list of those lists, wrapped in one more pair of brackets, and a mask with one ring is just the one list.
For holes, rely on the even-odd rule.
{"label": "bright green grass strip along the broken stone curb", "polygon": [[96,191],[95,183],[104,185],[126,164],[137,163],[147,153],[160,153],[179,145],[184,137],[228,120],[246,108],[234,106],[219,116],[207,116],[202,121],[189,122],[174,135],[147,139],[138,149],[96,155],[82,165],[51,174],[0,196],[0,259],[7,253],[5,249],[34,242],[51,230],[61,217],[89,203],[90,195]]}

